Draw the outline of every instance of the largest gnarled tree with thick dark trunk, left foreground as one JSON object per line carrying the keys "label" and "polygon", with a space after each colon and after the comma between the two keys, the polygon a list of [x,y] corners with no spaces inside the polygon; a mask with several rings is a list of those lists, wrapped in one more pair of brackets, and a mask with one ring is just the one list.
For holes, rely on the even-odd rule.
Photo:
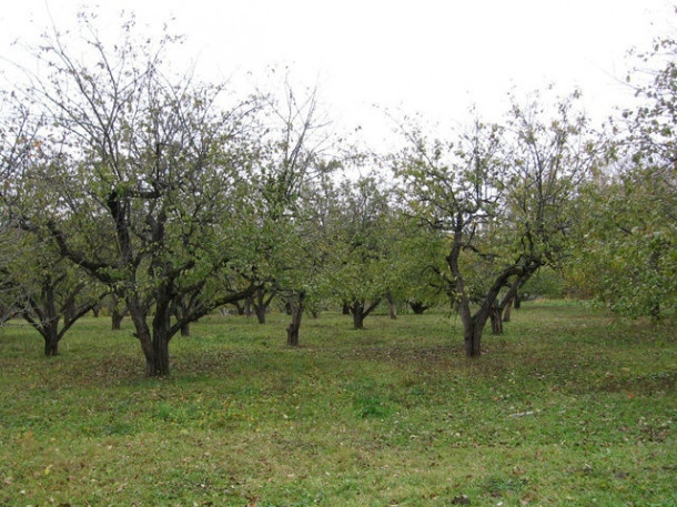
{"label": "largest gnarled tree with thick dark trunk, left foreground", "polygon": [[[182,326],[251,292],[224,281],[246,270],[239,203],[255,104],[223,109],[221,87],[163,73],[175,38],[141,40],[130,19],[109,45],[92,17],[80,23],[90,52],[48,36],[37,54],[46,73],[14,91],[41,160],[14,174],[14,219],[124,300],[146,374],[166,375]],[[175,320],[180,301],[190,306]]]}

